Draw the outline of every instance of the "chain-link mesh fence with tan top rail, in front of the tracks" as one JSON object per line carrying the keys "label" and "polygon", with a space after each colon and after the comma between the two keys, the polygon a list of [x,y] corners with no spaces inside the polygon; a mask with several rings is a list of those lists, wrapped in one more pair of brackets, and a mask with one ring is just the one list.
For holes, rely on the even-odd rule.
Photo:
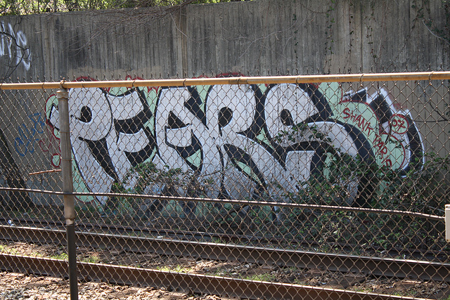
{"label": "chain-link mesh fence with tan top rail, in front of the tracks", "polygon": [[4,84],[0,266],[68,276],[68,115],[79,280],[249,299],[447,299],[449,80]]}

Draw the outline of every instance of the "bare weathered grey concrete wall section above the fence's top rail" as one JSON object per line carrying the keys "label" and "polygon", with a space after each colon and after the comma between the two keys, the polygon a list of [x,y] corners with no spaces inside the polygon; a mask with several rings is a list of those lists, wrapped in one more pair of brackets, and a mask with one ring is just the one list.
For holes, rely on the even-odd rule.
{"label": "bare weathered grey concrete wall section above the fence's top rail", "polygon": [[[13,78],[448,68],[449,44],[433,32],[446,13],[442,1],[426,2],[259,0],[1,20],[30,48],[30,70],[21,64]],[[15,62],[7,48],[1,74]]]}

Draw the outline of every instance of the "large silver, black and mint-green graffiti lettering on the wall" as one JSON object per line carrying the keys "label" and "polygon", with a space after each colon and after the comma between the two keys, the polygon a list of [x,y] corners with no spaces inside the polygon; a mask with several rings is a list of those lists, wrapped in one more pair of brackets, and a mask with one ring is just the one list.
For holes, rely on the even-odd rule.
{"label": "large silver, black and mint-green graffiti lettering on the wall", "polygon": [[[290,201],[287,195],[326,163],[325,143],[403,171],[423,159],[411,114],[397,110],[383,89],[343,93],[334,83],[263,84],[71,89],[69,97],[79,191],[132,187],[129,171],[151,162],[156,169],[181,169],[200,185],[204,179],[206,197]],[[58,131],[57,100],[47,103],[48,124]],[[349,203],[368,201],[364,180],[354,183]],[[103,206],[108,198],[94,201]]]}

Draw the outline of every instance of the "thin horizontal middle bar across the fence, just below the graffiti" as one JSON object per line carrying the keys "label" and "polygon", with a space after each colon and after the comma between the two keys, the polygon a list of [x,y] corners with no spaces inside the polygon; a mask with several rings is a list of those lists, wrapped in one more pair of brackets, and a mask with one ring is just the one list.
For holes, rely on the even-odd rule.
{"label": "thin horizontal middle bar across the fence, just below the graffiti", "polygon": [[364,212],[366,214],[394,214],[399,216],[415,216],[418,218],[430,219],[435,221],[445,221],[444,216],[436,216],[434,214],[423,214],[416,211],[401,211],[395,209],[371,209],[366,207],[338,207],[333,205],[319,205],[319,204],[300,204],[300,203],[286,203],[286,202],[267,202],[267,201],[249,201],[249,200],[230,200],[230,199],[214,199],[214,198],[198,198],[198,197],[174,197],[174,196],[160,196],[160,195],[141,195],[141,194],[126,194],[126,193],[63,193],[53,190],[35,190],[30,188],[1,188],[11,192],[27,192],[27,193],[42,193],[49,195],[74,195],[74,196],[105,196],[105,197],[128,197],[141,199],[159,199],[159,200],[175,200],[175,201],[194,201],[194,202],[210,202],[218,204],[240,204],[240,205],[255,205],[255,206],[270,206],[270,207],[290,207],[298,209],[318,209],[327,211],[354,211]]}

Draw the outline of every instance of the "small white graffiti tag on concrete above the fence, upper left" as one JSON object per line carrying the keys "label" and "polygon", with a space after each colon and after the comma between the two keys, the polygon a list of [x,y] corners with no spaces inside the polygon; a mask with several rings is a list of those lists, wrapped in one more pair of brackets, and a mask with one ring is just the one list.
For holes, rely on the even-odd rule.
{"label": "small white graffiti tag on concrete above the fence, upper left", "polygon": [[0,22],[0,57],[7,56],[15,66],[31,67],[31,51],[22,30],[15,31],[11,23]]}

